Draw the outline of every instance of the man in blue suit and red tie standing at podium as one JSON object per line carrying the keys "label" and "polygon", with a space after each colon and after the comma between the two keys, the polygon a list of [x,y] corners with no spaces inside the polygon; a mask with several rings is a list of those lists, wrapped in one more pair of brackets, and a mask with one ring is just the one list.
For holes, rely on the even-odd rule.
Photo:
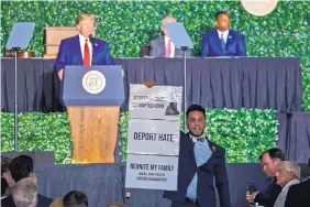
{"label": "man in blue suit and red tie standing at podium", "polygon": [[77,19],[79,34],[60,42],[59,52],[55,62],[59,79],[66,65],[113,65],[109,44],[100,39],[92,37],[96,30],[95,15],[81,13]]}

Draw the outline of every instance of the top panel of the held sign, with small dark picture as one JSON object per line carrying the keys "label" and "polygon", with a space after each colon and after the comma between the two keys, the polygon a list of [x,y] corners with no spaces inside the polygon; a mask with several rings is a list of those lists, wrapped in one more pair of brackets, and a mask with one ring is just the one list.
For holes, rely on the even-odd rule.
{"label": "top panel of the held sign, with small dark picture", "polygon": [[130,85],[130,118],[180,120],[182,87]]}

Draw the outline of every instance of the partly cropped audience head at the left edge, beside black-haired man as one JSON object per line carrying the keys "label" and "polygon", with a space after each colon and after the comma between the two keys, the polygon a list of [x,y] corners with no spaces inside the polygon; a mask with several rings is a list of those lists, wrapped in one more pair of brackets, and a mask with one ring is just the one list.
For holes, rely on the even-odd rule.
{"label": "partly cropped audience head at the left edge, beside black-haired man", "polygon": [[15,182],[10,173],[11,159],[1,156],[1,195],[9,194],[9,186],[12,186]]}

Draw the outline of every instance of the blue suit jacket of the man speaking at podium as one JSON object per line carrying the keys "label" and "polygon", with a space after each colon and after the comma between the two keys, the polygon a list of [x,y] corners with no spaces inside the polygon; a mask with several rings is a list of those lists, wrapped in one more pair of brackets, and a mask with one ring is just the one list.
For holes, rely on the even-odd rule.
{"label": "blue suit jacket of the man speaking at podium", "polygon": [[[66,65],[82,65],[79,36],[65,39],[60,42],[59,52],[54,68],[58,73]],[[109,44],[100,39],[92,41],[91,65],[113,65]]]}

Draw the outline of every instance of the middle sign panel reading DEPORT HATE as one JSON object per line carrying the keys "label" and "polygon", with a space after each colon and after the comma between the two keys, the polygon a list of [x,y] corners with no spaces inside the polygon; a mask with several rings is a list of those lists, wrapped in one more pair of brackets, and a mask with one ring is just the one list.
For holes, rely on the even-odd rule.
{"label": "middle sign panel reading DEPORT HATE", "polygon": [[179,121],[131,119],[128,153],[178,155]]}

